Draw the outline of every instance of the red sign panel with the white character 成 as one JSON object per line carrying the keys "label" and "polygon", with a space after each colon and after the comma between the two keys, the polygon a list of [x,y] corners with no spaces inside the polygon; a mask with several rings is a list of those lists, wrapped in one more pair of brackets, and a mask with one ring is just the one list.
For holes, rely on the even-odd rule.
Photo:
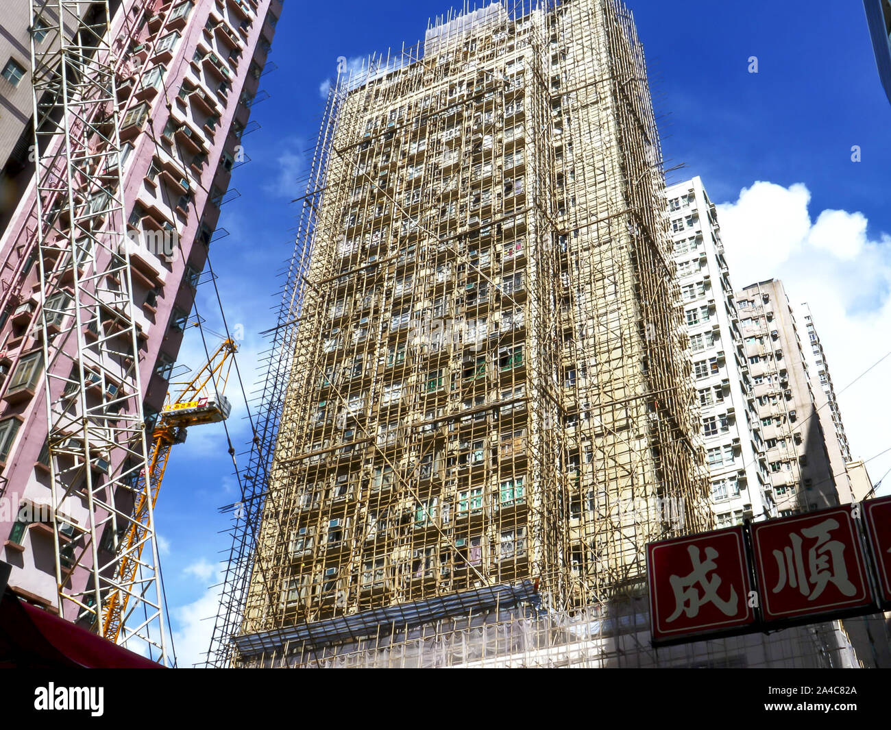
{"label": "red sign panel with the white character \u6210", "polygon": [[740,630],[755,622],[743,529],[647,545],[654,641]]}

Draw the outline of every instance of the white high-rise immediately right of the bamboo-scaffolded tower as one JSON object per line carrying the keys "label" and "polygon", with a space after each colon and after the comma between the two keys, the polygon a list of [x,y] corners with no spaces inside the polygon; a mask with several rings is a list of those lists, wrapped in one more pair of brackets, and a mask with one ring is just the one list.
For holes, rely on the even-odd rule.
{"label": "white high-rise immediately right of the bamboo-scaffolded tower", "polygon": [[666,191],[715,526],[776,516],[721,227],[699,177]]}

